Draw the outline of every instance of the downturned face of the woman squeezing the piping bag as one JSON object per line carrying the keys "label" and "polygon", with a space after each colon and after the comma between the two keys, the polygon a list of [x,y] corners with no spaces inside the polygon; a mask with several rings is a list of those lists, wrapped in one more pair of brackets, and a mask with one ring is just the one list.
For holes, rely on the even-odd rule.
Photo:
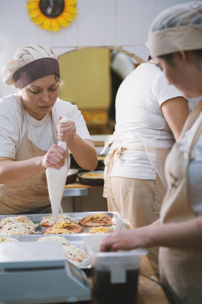
{"label": "downturned face of the woman squeezing the piping bag", "polygon": [[41,120],[51,111],[59,95],[60,81],[55,74],[41,77],[21,89],[25,110],[35,119]]}

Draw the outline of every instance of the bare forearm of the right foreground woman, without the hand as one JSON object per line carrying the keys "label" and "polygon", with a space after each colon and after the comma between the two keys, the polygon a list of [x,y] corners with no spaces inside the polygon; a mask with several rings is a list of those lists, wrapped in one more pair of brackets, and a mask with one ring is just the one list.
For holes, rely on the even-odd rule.
{"label": "bare forearm of the right foreground woman, without the hand", "polygon": [[202,249],[202,217],[181,223],[153,225],[147,233],[148,245]]}

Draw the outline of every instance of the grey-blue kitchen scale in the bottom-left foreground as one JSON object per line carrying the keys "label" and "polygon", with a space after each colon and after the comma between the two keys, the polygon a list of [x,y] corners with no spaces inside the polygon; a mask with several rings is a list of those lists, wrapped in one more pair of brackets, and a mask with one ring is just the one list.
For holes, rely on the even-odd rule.
{"label": "grey-blue kitchen scale in the bottom-left foreground", "polygon": [[58,242],[0,244],[0,304],[89,301],[82,270],[66,261]]}

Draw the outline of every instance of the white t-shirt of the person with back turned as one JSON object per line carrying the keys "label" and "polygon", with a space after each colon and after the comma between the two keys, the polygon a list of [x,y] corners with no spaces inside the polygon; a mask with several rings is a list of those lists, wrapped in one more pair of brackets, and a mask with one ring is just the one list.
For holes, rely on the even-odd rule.
{"label": "white t-shirt of the person with back turned", "polygon": [[[168,84],[155,64],[143,63],[132,71],[117,92],[112,147],[172,147],[174,136],[161,104],[177,96],[183,96],[182,92]],[[115,158],[111,176],[155,180],[155,168],[146,152],[124,150]]]}

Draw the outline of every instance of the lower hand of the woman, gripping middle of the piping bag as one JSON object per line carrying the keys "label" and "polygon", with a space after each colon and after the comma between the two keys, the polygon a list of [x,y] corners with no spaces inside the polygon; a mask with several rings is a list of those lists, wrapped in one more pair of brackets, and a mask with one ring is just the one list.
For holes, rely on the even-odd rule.
{"label": "lower hand of the woman, gripping middle of the piping bag", "polygon": [[53,145],[42,157],[42,166],[60,169],[64,166],[64,160],[67,158],[67,152],[58,145]]}

